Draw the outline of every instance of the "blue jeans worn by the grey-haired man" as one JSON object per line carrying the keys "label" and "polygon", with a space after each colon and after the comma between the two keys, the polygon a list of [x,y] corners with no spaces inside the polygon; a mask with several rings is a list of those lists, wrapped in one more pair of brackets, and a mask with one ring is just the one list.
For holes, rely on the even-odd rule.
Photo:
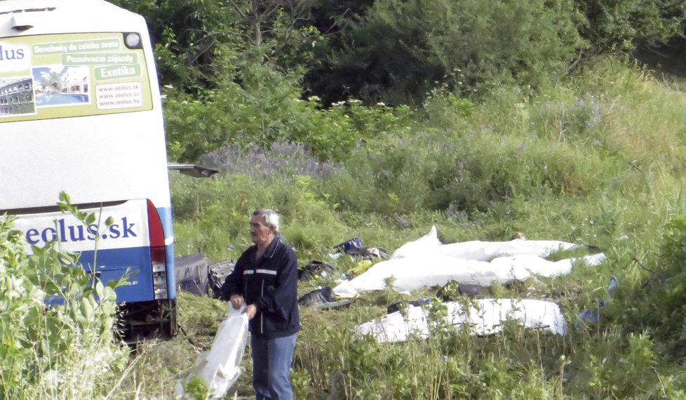
{"label": "blue jeans worn by the grey-haired man", "polygon": [[290,362],[297,333],[284,338],[262,339],[250,335],[253,352],[253,386],[257,400],[292,400]]}

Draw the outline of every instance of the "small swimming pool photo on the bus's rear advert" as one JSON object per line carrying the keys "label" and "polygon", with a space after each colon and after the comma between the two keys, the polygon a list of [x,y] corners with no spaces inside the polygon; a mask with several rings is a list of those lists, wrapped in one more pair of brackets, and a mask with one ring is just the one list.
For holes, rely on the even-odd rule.
{"label": "small swimming pool photo on the bus's rear advert", "polygon": [[32,69],[36,107],[90,103],[90,69],[87,66],[44,65]]}

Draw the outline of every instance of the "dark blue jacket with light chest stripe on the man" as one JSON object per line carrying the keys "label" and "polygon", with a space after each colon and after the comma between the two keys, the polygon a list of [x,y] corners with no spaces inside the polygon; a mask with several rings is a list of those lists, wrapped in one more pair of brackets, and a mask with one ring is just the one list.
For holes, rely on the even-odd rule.
{"label": "dark blue jacket with light chest stripe on the man", "polygon": [[250,333],[260,338],[281,338],[300,331],[297,305],[297,258],[295,252],[274,237],[260,260],[257,246],[248,248],[222,286],[222,295],[242,295],[246,305],[255,305]]}

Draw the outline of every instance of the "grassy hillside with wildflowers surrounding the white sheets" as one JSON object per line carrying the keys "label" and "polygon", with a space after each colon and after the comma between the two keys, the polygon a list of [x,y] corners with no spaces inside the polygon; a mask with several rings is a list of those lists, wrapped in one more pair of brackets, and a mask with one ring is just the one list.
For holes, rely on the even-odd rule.
{"label": "grassy hillside with wildflowers surrounding the white sheets", "polygon": [[[503,87],[476,104],[434,92],[401,116],[369,111],[367,123],[384,128],[336,162],[285,142],[222,149],[206,159],[221,168],[217,178],[170,175],[177,254],[236,260],[250,244],[248,216],[261,206],[282,213],[300,265],[322,260],[337,273],[358,263],[330,258],[335,244],[359,237],[394,251],[432,225],[443,243],[524,234],[581,244],[607,260],[489,289],[496,298],[559,302],[570,327],[564,336],[516,324],[486,337],[439,324],[428,340],[385,345],[352,335],[392,302],[432,297],[436,288],[302,308],[296,398],[686,398],[685,106],[673,83],[606,60],[537,95]],[[612,295],[611,276],[619,281]],[[336,277],[303,281],[299,292],[335,286]],[[598,322],[579,323],[599,299]],[[100,376],[102,397],[173,397],[227,309],[184,293],[179,305],[182,334],[141,345],[126,368]],[[229,398],[253,396],[249,354],[243,366]]]}

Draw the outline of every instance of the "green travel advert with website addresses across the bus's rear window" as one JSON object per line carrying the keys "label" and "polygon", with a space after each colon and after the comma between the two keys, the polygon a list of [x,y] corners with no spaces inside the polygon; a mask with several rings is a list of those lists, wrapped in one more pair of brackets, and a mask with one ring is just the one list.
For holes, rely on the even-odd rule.
{"label": "green travel advert with website addresses across the bus's rear window", "polygon": [[144,48],[127,46],[123,35],[0,38],[6,54],[0,82],[9,86],[9,96],[0,99],[0,123],[152,110],[158,89],[151,86]]}

